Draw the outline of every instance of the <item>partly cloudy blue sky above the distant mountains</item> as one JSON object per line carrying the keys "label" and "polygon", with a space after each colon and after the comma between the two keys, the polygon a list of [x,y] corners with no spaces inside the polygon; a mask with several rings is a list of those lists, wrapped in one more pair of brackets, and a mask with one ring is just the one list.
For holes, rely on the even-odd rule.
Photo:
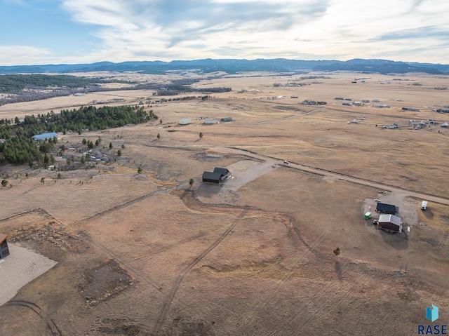
{"label": "partly cloudy blue sky above the distant mountains", "polygon": [[449,64],[447,0],[0,0],[0,65],[381,58]]}

